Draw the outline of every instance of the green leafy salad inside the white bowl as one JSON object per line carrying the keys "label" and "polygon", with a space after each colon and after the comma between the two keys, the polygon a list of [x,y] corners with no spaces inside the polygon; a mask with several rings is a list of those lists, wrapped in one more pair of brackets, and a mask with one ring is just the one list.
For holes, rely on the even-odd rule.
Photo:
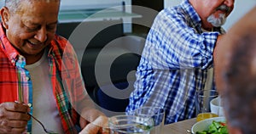
{"label": "green leafy salad inside the white bowl", "polygon": [[225,122],[212,121],[207,131],[196,131],[196,134],[228,134],[228,129]]}

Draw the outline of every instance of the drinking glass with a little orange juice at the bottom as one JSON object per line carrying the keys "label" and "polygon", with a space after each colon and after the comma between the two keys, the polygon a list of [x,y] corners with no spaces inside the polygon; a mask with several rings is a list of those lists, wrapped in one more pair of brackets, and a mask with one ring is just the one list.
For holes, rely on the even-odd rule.
{"label": "drinking glass with a little orange juice at the bottom", "polygon": [[210,110],[211,100],[218,98],[218,92],[216,90],[197,91],[195,96],[196,121],[218,117],[218,114],[213,114]]}

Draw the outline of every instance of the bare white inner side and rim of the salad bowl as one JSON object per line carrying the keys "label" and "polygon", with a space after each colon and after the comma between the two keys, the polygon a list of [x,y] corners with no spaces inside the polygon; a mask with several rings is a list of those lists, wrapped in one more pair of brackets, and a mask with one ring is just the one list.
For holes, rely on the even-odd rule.
{"label": "bare white inner side and rim of the salad bowl", "polygon": [[195,134],[196,131],[205,131],[208,129],[208,126],[212,124],[212,120],[215,121],[225,121],[224,117],[213,117],[206,120],[201,120],[196,122],[194,126],[192,126],[191,131]]}

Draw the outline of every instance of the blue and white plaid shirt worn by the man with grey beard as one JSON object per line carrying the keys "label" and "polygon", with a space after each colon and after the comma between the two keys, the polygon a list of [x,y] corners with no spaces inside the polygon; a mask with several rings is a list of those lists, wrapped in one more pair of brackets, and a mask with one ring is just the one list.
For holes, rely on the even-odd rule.
{"label": "blue and white plaid shirt worn by the man with grey beard", "polygon": [[148,33],[126,111],[160,106],[166,109],[166,124],[195,117],[195,91],[205,86],[219,34],[222,28],[202,31],[188,0],[163,9]]}

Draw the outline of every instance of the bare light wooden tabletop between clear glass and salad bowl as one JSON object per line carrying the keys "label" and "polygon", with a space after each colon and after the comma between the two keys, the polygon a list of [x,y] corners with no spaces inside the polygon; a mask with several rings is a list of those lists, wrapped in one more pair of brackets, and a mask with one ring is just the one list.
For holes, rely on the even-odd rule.
{"label": "bare light wooden tabletop between clear glass and salad bowl", "polygon": [[163,134],[186,134],[187,130],[191,131],[191,127],[196,123],[196,119],[183,120],[163,128]]}

